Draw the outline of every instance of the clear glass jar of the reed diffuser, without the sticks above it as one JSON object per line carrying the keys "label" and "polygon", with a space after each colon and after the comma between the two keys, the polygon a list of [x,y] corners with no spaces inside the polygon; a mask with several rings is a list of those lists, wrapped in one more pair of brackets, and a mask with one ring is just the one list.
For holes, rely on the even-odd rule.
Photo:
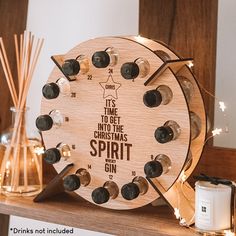
{"label": "clear glass jar of the reed diffuser, without the sticks above it", "polygon": [[12,126],[1,136],[5,149],[0,169],[0,190],[8,196],[33,196],[42,190],[42,153],[40,135],[27,133],[28,108],[12,107]]}

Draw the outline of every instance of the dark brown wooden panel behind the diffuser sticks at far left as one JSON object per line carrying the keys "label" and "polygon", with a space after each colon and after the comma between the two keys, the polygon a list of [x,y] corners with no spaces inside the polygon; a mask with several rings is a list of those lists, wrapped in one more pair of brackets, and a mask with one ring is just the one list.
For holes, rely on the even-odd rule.
{"label": "dark brown wooden panel behind the diffuser sticks at far left", "polygon": [[[16,80],[16,60],[14,34],[24,32],[26,28],[28,0],[0,0],[0,37],[3,37],[13,78]],[[16,83],[17,86],[17,83]],[[11,124],[9,108],[13,105],[10,92],[0,65],[0,132]]]}

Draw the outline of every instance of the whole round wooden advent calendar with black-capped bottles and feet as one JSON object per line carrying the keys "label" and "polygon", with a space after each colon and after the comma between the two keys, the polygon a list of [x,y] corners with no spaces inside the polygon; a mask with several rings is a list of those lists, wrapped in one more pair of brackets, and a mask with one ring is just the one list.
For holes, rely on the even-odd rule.
{"label": "whole round wooden advent calendar with black-capped bottles and feet", "polygon": [[[72,184],[76,179],[67,184],[86,200],[119,210],[161,195],[193,223],[194,190],[183,178],[200,159],[206,115],[192,60],[143,37],[92,39],[52,59],[56,66],[43,88],[36,123],[46,153],[54,151],[48,152],[54,158],[49,162],[57,172],[74,164],[68,175],[78,177],[78,188]],[[170,96],[166,104],[156,92],[163,86]],[[197,135],[192,114],[198,118]],[[178,135],[168,133],[162,142],[158,128],[168,122],[177,124]],[[163,156],[165,171],[158,159]],[[159,176],[146,178],[150,168],[159,168]]]}

